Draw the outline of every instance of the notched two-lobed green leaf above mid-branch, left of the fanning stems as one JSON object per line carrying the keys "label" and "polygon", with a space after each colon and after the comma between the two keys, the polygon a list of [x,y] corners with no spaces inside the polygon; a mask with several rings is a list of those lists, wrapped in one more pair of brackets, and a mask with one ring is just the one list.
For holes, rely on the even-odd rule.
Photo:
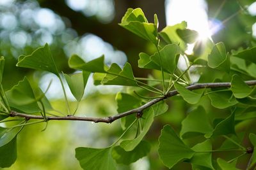
{"label": "notched two-lobed green leaf above mid-branch, left of the fanning stems", "polygon": [[124,65],[123,69],[113,63],[107,72],[108,73],[101,81],[103,85],[138,86],[132,73],[131,64],[128,62]]}

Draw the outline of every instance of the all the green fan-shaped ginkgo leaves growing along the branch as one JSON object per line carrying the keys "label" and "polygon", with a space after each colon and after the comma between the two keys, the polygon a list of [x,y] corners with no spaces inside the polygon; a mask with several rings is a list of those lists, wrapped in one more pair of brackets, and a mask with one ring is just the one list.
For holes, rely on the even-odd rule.
{"label": "all the green fan-shaped ginkgo leaves growing along the branch", "polygon": [[[68,65],[78,69],[81,73],[63,74],[72,94],[81,101],[84,88],[90,73],[93,73],[95,85],[122,85],[133,87],[135,94],[118,92],[116,103],[118,113],[134,110],[152,99],[159,99],[156,104],[138,110],[136,117],[127,115],[121,118],[124,133],[113,145],[107,148],[76,148],[76,158],[83,169],[116,169],[116,164],[131,164],[150,152],[150,143],[143,140],[150,129],[154,118],[166,113],[168,104],[164,99],[170,97],[171,92],[177,92],[184,101],[191,105],[191,111],[184,120],[180,134],[170,125],[165,125],[159,136],[159,159],[163,164],[172,168],[179,162],[189,162],[193,169],[236,169],[239,158],[251,154],[252,159],[248,168],[255,166],[255,152],[246,149],[242,141],[249,138],[252,147],[256,147],[256,134],[244,137],[244,133],[235,131],[236,125],[248,119],[255,119],[255,81],[245,81],[256,78],[256,47],[228,53],[223,43],[214,44],[211,39],[198,41],[198,33],[186,29],[186,22],[167,26],[158,31],[157,15],[154,23],[148,23],[140,8],[128,9],[120,24],[125,29],[150,41],[156,46],[156,53],[148,55],[140,53],[138,67],[152,69],[160,73],[161,80],[152,76],[135,78],[132,67],[127,62],[124,67],[118,64],[106,66],[104,56],[85,62],[81,57],[72,55]],[[188,43],[195,43],[193,54],[188,55]],[[179,57],[184,57],[188,66],[184,71],[177,67]],[[49,71],[61,81],[63,92],[63,77],[58,71],[48,45],[38,48],[31,55],[21,55],[17,63],[19,67]],[[0,83],[3,76],[4,58],[0,59]],[[200,76],[197,82],[191,80],[190,74]],[[209,76],[211,75],[211,76]],[[147,83],[145,83],[145,81]],[[230,82],[223,85],[221,82]],[[192,83],[211,83],[208,87],[189,90]],[[226,83],[228,84],[228,83]],[[223,86],[221,86],[223,85]],[[1,85],[1,122],[18,122],[12,127],[0,129],[0,167],[9,167],[17,158],[16,138],[24,125],[35,124],[29,118],[11,118],[13,111],[26,115],[39,114],[44,120],[52,115],[52,106],[45,97],[45,92],[39,87],[31,87],[28,78],[19,81],[12,89],[4,92]],[[71,116],[67,97],[67,115]],[[222,117],[209,113],[205,100],[211,101],[210,108],[223,111]],[[145,105],[143,105],[145,106]],[[53,115],[54,116],[54,115]],[[248,132],[247,132],[248,134]],[[191,145],[193,139],[199,138]],[[222,139],[220,146],[215,146]],[[224,160],[212,157],[216,152],[228,152],[232,159]]]}

